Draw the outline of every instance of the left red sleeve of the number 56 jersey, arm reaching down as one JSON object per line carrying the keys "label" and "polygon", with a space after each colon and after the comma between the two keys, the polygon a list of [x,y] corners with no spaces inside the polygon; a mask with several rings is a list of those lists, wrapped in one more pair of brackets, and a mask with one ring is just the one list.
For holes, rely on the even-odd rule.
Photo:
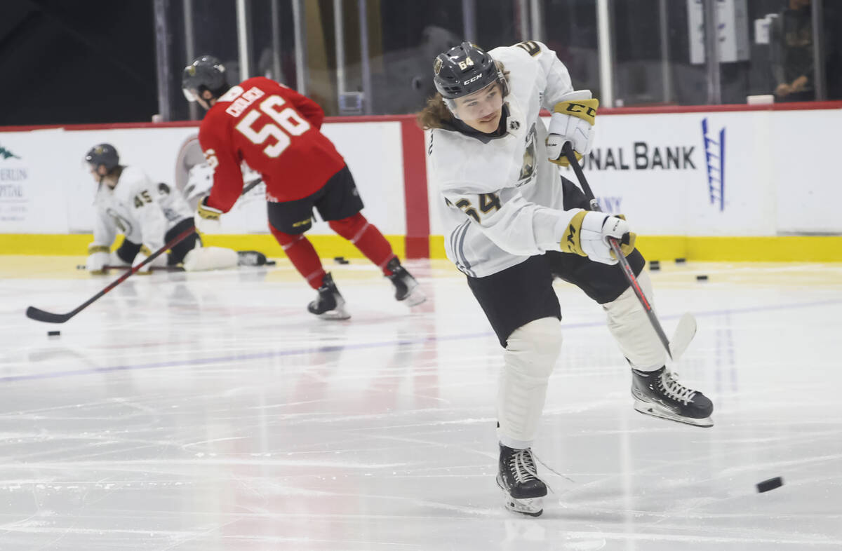
{"label": "left red sleeve of the number 56 jersey, arm reaching down", "polygon": [[214,209],[228,212],[242,193],[242,169],[233,140],[225,137],[224,111],[209,112],[199,129],[199,145],[208,165],[213,169],[213,186],[207,204]]}

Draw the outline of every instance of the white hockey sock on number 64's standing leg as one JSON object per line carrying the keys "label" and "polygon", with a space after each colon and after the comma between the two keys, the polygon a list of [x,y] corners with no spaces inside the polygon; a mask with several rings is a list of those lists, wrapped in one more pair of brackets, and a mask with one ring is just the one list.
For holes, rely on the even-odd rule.
{"label": "white hockey sock on number 64's standing leg", "polygon": [[515,329],[504,352],[497,395],[498,438],[509,448],[529,448],[544,410],[546,385],[562,351],[562,324],[541,318]]}

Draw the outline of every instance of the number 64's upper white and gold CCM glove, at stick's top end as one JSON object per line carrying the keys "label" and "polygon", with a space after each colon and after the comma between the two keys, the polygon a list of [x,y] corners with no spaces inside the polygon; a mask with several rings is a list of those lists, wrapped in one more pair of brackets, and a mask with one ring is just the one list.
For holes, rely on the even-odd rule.
{"label": "number 64's upper white and gold CCM glove, at stick's top end", "polygon": [[562,101],[552,108],[550,135],[546,137],[546,155],[551,162],[569,167],[562,146],[570,142],[576,158],[581,159],[590,152],[594,143],[596,109],[600,100],[590,97],[590,90],[576,90],[562,96]]}

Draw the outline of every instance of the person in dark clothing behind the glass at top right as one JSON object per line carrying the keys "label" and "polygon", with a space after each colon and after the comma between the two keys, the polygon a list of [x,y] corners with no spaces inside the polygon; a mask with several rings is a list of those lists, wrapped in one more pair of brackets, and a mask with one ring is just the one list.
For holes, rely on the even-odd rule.
{"label": "person in dark clothing behind the glass at top right", "polygon": [[775,98],[804,102],[816,98],[813,87],[813,14],[810,0],[788,0],[771,26]]}

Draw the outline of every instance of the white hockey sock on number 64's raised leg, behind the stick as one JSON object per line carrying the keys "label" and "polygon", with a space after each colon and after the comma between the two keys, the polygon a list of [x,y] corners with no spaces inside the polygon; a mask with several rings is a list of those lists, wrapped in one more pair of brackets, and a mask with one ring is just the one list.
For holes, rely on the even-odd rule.
{"label": "white hockey sock on number 64's raised leg, behind the stick", "polygon": [[[641,272],[637,283],[640,283],[649,304],[654,306],[649,274]],[[608,329],[632,368],[652,371],[666,363],[667,353],[663,344],[631,287],[602,307],[608,315]]]}

